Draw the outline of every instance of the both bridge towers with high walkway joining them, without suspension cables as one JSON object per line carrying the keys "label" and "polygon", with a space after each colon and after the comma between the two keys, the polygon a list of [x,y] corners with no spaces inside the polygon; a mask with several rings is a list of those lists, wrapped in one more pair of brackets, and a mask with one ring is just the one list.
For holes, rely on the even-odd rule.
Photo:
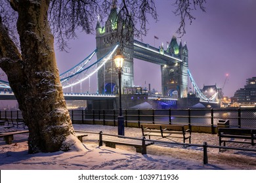
{"label": "both bridge towers with high walkway joining them, without suspension cables", "polygon": [[[113,32],[117,31],[114,22],[120,20],[117,15],[117,8],[113,6],[105,25],[100,25],[99,21],[96,25],[97,58],[102,58],[119,41],[118,37],[112,36]],[[125,61],[121,86],[118,86],[118,77],[114,74],[116,71],[112,59],[98,71],[98,91],[100,93],[117,93],[119,87],[124,90],[134,87],[133,59],[137,58],[161,65],[161,93],[163,96],[170,96],[175,99],[187,97],[188,48],[186,43],[182,46],[181,42],[178,44],[176,37],[172,37],[167,50],[164,50],[163,46],[155,48],[134,40],[133,35],[130,35],[129,41],[123,44],[123,56]]]}

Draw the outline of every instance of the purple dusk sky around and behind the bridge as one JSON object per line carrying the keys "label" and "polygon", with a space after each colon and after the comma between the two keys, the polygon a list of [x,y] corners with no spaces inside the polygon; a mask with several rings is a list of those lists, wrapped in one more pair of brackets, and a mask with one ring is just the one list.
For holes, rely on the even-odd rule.
{"label": "purple dusk sky around and behind the bridge", "polygon": [[[150,21],[148,35],[143,42],[158,47],[170,42],[179,27],[179,17],[172,12],[173,1],[156,1],[159,21]],[[244,88],[247,78],[256,76],[256,1],[254,0],[215,0],[207,1],[206,12],[193,12],[196,20],[186,25],[188,65],[199,88],[217,84],[222,88],[226,73],[229,74],[224,87],[224,95],[231,97],[234,92]],[[179,40],[179,39],[178,39]],[[56,58],[60,73],[81,61],[96,48],[95,35],[81,33],[79,39],[70,41],[69,53],[58,52]],[[142,67],[143,65],[143,67]],[[161,91],[161,71],[159,65],[135,59],[135,85],[143,86],[146,81],[151,88]],[[154,75],[152,74],[154,73]],[[94,85],[94,86],[93,86]],[[95,93],[95,82],[91,81],[91,93]],[[85,89],[86,90],[86,89]],[[95,90],[95,91],[93,91]]]}

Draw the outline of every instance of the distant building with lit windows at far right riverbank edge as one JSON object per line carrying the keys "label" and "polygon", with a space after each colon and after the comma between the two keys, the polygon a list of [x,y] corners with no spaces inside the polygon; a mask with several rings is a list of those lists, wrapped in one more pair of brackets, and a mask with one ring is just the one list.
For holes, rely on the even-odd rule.
{"label": "distant building with lit windows at far right riverbank edge", "polygon": [[247,78],[246,85],[234,93],[237,102],[242,106],[251,107],[256,103],[256,77]]}

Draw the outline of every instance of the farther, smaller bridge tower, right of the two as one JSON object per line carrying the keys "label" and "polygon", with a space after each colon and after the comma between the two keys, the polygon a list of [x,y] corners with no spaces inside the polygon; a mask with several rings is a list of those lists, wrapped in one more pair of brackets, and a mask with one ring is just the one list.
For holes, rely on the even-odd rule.
{"label": "farther, smaller bridge tower, right of the two", "polygon": [[167,53],[175,58],[180,58],[180,62],[169,62],[161,65],[161,90],[164,96],[176,97],[178,99],[188,95],[188,48],[186,42],[178,44],[177,38],[173,36]]}

